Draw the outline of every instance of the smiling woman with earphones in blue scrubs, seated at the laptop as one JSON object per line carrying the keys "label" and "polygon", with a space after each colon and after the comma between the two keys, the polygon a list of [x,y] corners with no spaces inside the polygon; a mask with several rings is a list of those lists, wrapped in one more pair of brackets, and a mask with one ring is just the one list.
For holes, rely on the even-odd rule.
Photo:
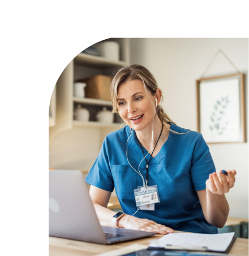
{"label": "smiling woman with earphones in blue scrubs, seated at the laptop", "polygon": [[[203,136],[178,127],[161,100],[162,91],[143,66],[125,66],[115,74],[113,112],[126,126],[106,136],[85,180],[92,185],[100,224],[159,234],[217,233],[226,223],[225,193],[234,186],[236,171],[227,170],[227,177],[216,173]],[[134,190],[143,186],[157,186],[160,202],[154,211],[136,206]],[[125,215],[113,224],[116,212],[106,207],[114,187]]]}

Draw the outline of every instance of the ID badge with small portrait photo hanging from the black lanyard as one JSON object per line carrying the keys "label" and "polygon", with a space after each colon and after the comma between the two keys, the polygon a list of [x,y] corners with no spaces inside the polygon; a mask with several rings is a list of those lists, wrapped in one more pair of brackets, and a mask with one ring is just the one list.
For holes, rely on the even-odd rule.
{"label": "ID badge with small portrait photo hanging from the black lanyard", "polygon": [[[147,188],[140,187],[134,190],[136,206],[143,207],[143,209],[149,209],[153,211],[153,207],[148,207],[150,204],[160,203],[158,196],[157,185],[149,186]],[[145,206],[145,207],[144,207]],[[152,205],[151,205],[152,206]],[[140,207],[140,209],[141,209]]]}

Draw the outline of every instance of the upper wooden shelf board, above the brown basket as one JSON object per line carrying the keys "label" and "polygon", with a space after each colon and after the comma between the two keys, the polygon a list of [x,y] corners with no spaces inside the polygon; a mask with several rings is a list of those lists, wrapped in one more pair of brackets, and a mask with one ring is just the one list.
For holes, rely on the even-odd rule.
{"label": "upper wooden shelf board, above the brown basket", "polygon": [[93,56],[87,53],[79,53],[74,57],[74,63],[80,64],[80,65],[88,65],[88,66],[94,66],[99,68],[111,68],[111,67],[117,67],[119,65],[125,65],[125,61],[113,61],[108,60],[104,57],[100,56]]}

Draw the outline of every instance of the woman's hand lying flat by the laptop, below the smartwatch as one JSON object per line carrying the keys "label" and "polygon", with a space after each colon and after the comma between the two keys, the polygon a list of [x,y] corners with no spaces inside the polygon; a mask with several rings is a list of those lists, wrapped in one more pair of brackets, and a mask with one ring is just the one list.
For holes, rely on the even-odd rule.
{"label": "woman's hand lying flat by the laptop, below the smartwatch", "polygon": [[117,225],[119,228],[136,229],[158,234],[174,233],[174,229],[165,225],[157,224],[152,220],[139,219],[131,215],[122,216],[121,219],[117,220]]}

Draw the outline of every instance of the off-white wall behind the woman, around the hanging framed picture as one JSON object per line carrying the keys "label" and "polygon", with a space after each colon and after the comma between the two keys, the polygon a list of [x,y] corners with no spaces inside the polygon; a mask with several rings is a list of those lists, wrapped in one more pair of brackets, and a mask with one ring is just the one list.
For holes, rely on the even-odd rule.
{"label": "off-white wall behind the woman, around the hanging framed picture", "polygon": [[[249,38],[131,38],[131,64],[141,64],[156,77],[164,93],[166,112],[180,127],[196,131],[196,87],[212,60],[222,49],[246,74],[246,133],[249,136]],[[221,53],[205,77],[234,74],[236,70]],[[237,170],[235,186],[226,198],[230,217],[249,218],[249,143],[208,144],[216,170]]]}

